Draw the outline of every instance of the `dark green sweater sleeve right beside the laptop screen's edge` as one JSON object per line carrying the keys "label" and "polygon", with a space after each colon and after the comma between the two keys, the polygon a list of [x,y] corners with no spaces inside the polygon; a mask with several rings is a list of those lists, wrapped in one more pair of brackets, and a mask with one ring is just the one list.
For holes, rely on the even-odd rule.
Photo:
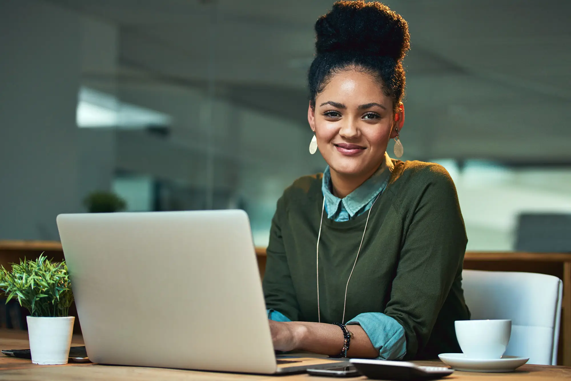
{"label": "dark green sweater sleeve right beside the laptop screen's edge", "polygon": [[283,197],[278,200],[278,207],[274,218],[272,218],[270,242],[266,250],[266,272],[262,286],[266,308],[280,312],[291,321],[296,321],[299,320],[299,306],[289,273],[286,248],[282,238],[282,221],[280,218],[282,213],[285,213]]}

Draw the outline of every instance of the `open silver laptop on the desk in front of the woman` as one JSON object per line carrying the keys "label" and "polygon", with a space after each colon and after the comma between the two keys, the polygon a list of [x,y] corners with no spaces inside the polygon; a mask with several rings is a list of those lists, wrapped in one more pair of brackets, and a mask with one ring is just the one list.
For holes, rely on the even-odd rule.
{"label": "open silver laptop on the desk in front of the woman", "polygon": [[339,364],[276,358],[244,211],[61,214],[57,224],[95,363],[257,374]]}

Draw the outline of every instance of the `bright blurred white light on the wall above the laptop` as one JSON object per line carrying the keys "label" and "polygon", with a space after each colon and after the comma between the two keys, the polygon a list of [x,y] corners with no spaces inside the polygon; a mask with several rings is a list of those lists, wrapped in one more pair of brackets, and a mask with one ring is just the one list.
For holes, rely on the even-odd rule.
{"label": "bright blurred white light on the wall above the laptop", "polygon": [[168,114],[120,102],[114,95],[89,87],[81,87],[78,98],[75,113],[78,127],[145,129],[148,126],[169,126],[172,122]]}

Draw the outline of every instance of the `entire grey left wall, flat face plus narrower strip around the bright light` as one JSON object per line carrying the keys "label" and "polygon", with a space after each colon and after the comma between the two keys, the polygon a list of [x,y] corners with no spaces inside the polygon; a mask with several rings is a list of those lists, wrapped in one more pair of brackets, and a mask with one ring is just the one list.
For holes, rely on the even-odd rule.
{"label": "entire grey left wall, flat face plus narrower strip around the bright light", "polygon": [[117,28],[48,2],[2,1],[0,57],[0,239],[59,239],[55,216],[111,189],[115,131],[78,129],[75,109],[85,73],[113,78]]}

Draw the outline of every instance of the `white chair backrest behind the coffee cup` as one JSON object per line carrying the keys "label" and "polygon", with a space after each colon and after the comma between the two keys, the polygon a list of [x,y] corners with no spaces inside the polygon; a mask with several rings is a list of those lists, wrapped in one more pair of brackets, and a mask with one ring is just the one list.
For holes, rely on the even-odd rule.
{"label": "white chair backrest behind the coffee cup", "polygon": [[532,272],[462,272],[472,320],[510,319],[506,355],[529,357],[529,364],[557,364],[563,283]]}

